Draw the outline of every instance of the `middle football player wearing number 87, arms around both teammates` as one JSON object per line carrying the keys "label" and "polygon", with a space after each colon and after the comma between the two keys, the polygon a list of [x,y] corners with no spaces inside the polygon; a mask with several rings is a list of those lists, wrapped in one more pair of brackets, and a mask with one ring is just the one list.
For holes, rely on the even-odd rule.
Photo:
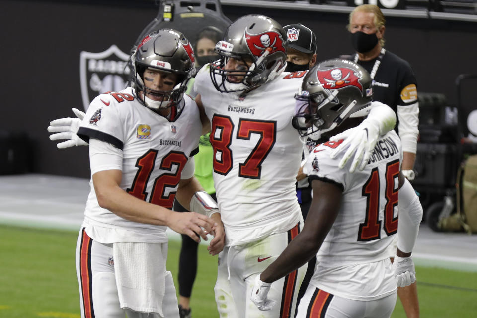
{"label": "middle football player wearing number 87, arms around both teammates", "polygon": [[[214,184],[226,231],[219,255],[216,301],[221,317],[293,317],[306,268],[272,285],[281,305],[259,312],[250,301],[255,277],[303,227],[295,192],[303,141],[292,126],[293,96],[307,71],[286,72],[286,35],[273,19],[247,15],[233,22],[216,45],[221,60],[206,65],[194,83],[195,101],[208,117],[214,148]],[[210,72],[209,72],[210,71]],[[340,166],[351,170],[367,161],[380,134],[396,123],[383,105],[349,132]],[[58,131],[78,145],[75,121]],[[56,128],[55,128],[56,129]],[[56,139],[56,138],[53,138]],[[354,155],[354,157],[353,157]]]}

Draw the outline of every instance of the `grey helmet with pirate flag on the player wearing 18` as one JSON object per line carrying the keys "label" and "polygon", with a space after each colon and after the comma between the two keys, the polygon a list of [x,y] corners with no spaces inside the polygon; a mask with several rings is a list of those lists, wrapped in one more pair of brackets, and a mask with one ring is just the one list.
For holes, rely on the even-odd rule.
{"label": "grey helmet with pirate flag on the player wearing 18", "polygon": [[301,136],[335,129],[353,113],[371,106],[371,83],[368,72],[352,61],[319,63],[295,94],[293,126]]}

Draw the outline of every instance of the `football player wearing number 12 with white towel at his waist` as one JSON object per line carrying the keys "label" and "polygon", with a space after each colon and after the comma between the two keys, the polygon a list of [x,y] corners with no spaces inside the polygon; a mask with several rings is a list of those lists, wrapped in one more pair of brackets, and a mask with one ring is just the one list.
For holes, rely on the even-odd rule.
{"label": "football player wearing number 12 with white towel at his waist", "polygon": [[[97,96],[78,130],[91,166],[76,254],[82,318],[178,318],[166,227],[196,241],[214,234],[211,254],[224,244],[217,206],[193,177],[202,124],[184,95],[192,47],[182,33],[161,29],[131,58],[132,87]],[[196,212],[171,211],[175,196]]]}

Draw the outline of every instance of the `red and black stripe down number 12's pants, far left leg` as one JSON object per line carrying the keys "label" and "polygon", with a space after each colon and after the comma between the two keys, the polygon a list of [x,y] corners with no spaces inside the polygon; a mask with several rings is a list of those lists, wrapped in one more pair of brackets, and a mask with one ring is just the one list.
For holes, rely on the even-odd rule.
{"label": "red and black stripe down number 12's pants, far left leg", "polygon": [[85,318],[94,318],[91,275],[91,245],[93,240],[82,230],[79,255],[79,273],[81,277],[81,296]]}

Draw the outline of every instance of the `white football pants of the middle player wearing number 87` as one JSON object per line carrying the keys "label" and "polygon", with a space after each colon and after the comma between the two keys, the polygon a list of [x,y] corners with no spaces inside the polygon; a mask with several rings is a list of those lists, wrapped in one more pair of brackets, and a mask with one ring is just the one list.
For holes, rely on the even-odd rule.
{"label": "white football pants of the middle player wearing number 87", "polygon": [[307,265],[274,282],[268,297],[278,301],[260,311],[250,300],[255,276],[270,265],[295,238],[303,224],[256,242],[225,247],[219,254],[215,300],[221,318],[293,318],[300,284]]}

